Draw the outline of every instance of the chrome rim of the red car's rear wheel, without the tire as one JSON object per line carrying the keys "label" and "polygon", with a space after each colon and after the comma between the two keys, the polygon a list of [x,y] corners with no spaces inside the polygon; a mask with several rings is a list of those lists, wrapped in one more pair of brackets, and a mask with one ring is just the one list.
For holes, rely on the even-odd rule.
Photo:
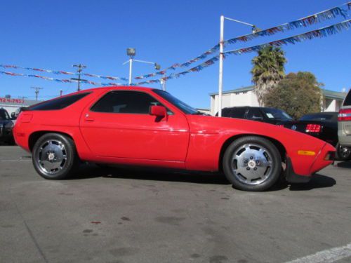
{"label": "chrome rim of the red car's rear wheel, without the tire", "polygon": [[55,175],[65,167],[67,151],[59,140],[48,140],[40,145],[35,158],[42,172]]}

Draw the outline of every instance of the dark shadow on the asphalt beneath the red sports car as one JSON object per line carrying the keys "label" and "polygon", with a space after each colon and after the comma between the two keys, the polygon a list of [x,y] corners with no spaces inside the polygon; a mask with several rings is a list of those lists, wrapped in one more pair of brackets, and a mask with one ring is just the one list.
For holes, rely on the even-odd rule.
{"label": "dark shadow on the asphalt beneath the red sports car", "polygon": [[[222,173],[189,172],[184,170],[170,170],[163,168],[131,168],[128,166],[95,166],[84,164],[71,178],[81,180],[95,177],[123,178],[131,180],[150,180],[164,182],[189,182],[193,184],[222,184],[230,182]],[[281,180],[267,191],[279,191],[289,188],[291,191],[307,191],[318,188],[333,187],[336,180],[326,175],[313,175],[312,180],[305,184],[288,184]]]}

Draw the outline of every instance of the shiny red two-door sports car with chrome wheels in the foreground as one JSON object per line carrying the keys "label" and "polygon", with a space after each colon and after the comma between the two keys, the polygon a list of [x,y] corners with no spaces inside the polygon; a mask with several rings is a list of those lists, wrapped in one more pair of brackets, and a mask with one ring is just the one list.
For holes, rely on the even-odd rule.
{"label": "shiny red two-door sports car with chrome wheels in the foreground", "polygon": [[334,147],[310,135],[244,119],[202,115],[163,90],[81,90],[29,107],[15,141],[46,179],[79,161],[224,172],[234,187],[263,191],[280,176],[308,182],[332,163]]}

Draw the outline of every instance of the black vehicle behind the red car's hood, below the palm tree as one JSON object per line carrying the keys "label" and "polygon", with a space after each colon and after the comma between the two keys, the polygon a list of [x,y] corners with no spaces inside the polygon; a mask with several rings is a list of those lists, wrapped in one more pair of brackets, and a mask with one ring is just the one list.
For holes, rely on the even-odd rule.
{"label": "black vehicle behind the red car's hood, below the palm tree", "polygon": [[[216,116],[218,116],[218,113]],[[222,116],[237,119],[248,119],[251,121],[262,121],[271,124],[293,120],[289,114],[281,109],[249,106],[224,108],[222,109]]]}

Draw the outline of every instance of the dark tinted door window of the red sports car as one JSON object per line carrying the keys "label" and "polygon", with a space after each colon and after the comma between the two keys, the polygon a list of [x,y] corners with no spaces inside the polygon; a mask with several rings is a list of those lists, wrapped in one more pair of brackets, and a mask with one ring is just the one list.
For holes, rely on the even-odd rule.
{"label": "dark tinted door window of the red sports car", "polygon": [[128,90],[114,90],[107,93],[93,107],[92,112],[149,114],[150,106],[161,105],[147,93]]}

